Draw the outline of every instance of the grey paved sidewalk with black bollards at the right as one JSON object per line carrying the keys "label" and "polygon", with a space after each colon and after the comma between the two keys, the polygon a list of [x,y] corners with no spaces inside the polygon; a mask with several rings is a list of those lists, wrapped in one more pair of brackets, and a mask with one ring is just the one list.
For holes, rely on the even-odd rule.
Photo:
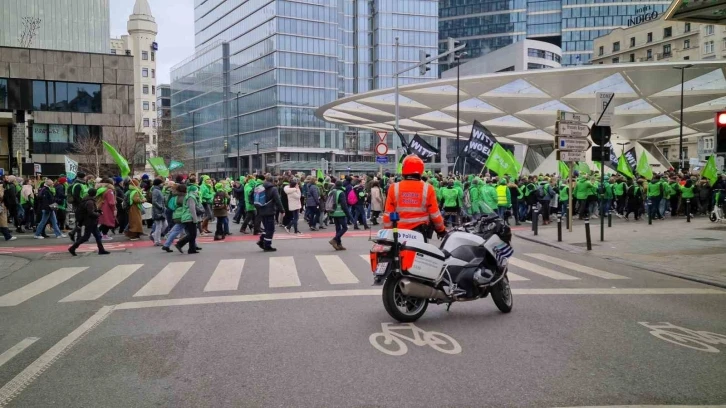
{"label": "grey paved sidewalk with black bollards at the right", "polygon": [[516,237],[553,246],[570,252],[588,253],[621,264],[678,276],[726,288],[726,224],[710,222],[705,217],[647,219],[630,221],[613,218],[612,228],[605,221],[605,241],[600,241],[600,220],[590,222],[592,251],[587,251],[585,226],[573,223],[572,232],[562,224],[562,242],[557,242],[557,223],[539,228],[534,236],[530,228],[516,231]]}

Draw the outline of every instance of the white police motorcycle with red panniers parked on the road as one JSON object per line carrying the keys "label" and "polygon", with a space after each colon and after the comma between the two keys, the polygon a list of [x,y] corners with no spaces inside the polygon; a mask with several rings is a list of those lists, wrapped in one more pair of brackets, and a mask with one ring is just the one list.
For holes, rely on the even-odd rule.
{"label": "white police motorcycle with red panniers parked on the road", "polygon": [[390,215],[393,229],[373,238],[370,251],[374,285],[383,285],[383,306],[399,322],[414,322],[429,303],[466,302],[492,295],[503,313],[512,310],[508,259],[512,232],[496,214],[449,231],[441,247],[424,235],[399,230],[398,213]]}

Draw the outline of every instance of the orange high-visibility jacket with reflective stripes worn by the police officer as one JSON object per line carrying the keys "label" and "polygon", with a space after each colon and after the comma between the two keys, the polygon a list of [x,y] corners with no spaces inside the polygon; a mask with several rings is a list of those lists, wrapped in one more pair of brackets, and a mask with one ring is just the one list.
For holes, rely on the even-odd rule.
{"label": "orange high-visibility jacket with reflective stripes worn by the police officer", "polygon": [[414,229],[431,221],[436,231],[444,230],[444,218],[436,202],[436,191],[423,181],[403,180],[388,188],[383,228],[393,227],[390,214],[394,211],[401,217],[398,228]]}

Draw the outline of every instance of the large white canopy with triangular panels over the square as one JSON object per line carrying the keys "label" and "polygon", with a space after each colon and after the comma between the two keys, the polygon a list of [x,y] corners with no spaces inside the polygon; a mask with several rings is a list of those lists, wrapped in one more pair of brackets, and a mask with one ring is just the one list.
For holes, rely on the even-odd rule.
{"label": "large white canopy with triangular panels over the square", "polygon": [[[478,120],[497,139],[512,144],[551,144],[557,110],[595,116],[597,92],[615,93],[614,137],[656,142],[679,136],[681,70],[683,134],[712,134],[714,112],[726,107],[726,63],[628,63],[504,72],[461,78],[460,136]],[[371,130],[392,130],[393,89],[356,94],[321,106],[326,121]],[[456,137],[456,78],[400,87],[400,128],[407,133]],[[592,124],[592,123],[591,123]],[[618,152],[619,153],[619,152]]]}

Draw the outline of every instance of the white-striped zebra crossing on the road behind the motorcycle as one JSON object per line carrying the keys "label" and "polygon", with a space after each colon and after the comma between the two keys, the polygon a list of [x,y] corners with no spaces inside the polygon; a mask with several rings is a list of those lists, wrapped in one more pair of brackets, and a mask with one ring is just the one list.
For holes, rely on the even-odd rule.
{"label": "white-striped zebra crossing on the road behind the motorcycle", "polygon": [[[267,262],[267,267],[260,268],[261,262]],[[523,284],[537,284],[543,281],[601,280],[604,282],[630,279],[627,276],[539,253],[524,253],[520,257],[512,257],[509,259],[509,265],[509,280]],[[59,268],[25,286],[0,295],[0,307],[18,306],[56,287],[66,288],[71,283],[77,283],[77,287],[80,288],[70,289],[68,291],[70,293],[60,297],[59,303],[99,300],[124,285],[134,289],[140,286],[132,295],[135,299],[159,296],[175,297],[176,292],[175,294],[172,292],[185,279],[190,279],[190,275],[198,276],[198,279],[204,279],[205,282],[203,287],[200,285],[200,291],[194,293],[194,296],[204,293],[250,291],[249,287],[242,284],[243,278],[248,283],[255,282],[258,285],[256,288],[266,282],[266,286],[271,290],[294,289],[303,284],[306,287],[329,290],[331,288],[328,285],[333,285],[333,287],[337,285],[369,286],[372,277],[370,259],[367,254],[275,256],[263,259],[221,259],[213,262],[208,260],[173,261],[158,269],[159,267],[158,263],[154,265],[122,264],[115,265],[105,272],[99,271],[98,268],[94,270],[93,267],[88,266]],[[304,271],[302,274],[300,273],[301,268]],[[207,277],[206,274],[209,271],[211,271],[211,275]],[[93,273],[99,272],[103,273],[94,279]],[[138,279],[142,279],[138,277],[140,274],[144,275],[143,282],[138,281]],[[146,279],[146,275],[151,277]],[[130,281],[134,280],[135,276],[137,276],[137,280],[132,284]],[[192,281],[196,282],[197,278]],[[188,290],[189,288],[186,287],[185,291]]]}

